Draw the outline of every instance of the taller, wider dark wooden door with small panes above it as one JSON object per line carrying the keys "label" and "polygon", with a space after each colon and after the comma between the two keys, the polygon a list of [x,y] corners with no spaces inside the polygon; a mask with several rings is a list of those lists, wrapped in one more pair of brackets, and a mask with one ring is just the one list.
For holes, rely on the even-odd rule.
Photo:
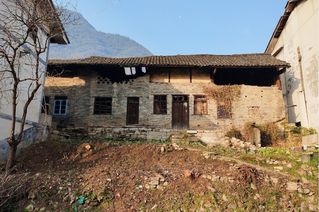
{"label": "taller, wider dark wooden door with small panes above it", "polygon": [[189,96],[172,96],[172,129],[189,129]]}

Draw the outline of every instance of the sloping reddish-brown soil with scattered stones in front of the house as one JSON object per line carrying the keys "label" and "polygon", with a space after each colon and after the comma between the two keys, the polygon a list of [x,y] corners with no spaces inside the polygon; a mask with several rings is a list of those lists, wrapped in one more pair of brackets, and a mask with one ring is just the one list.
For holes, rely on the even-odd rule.
{"label": "sloping reddish-brown soil with scattered stones in front of the house", "polygon": [[[287,191],[289,177],[278,172],[213,156],[206,159],[201,151],[161,154],[160,147],[159,143],[70,140],[32,144],[21,152],[15,166],[16,174],[24,174],[25,196],[6,210],[25,211],[33,204],[36,211],[43,207],[75,211],[75,206],[78,211],[299,211],[309,197]],[[185,170],[198,178],[185,179]],[[169,185],[163,190],[146,189],[156,174],[163,175]],[[211,181],[202,174],[217,175],[223,181]],[[271,177],[278,182],[267,181]],[[318,186],[300,186],[315,192],[313,204],[318,204]],[[83,196],[84,203],[63,202],[69,193]],[[96,200],[98,206],[92,206]]]}

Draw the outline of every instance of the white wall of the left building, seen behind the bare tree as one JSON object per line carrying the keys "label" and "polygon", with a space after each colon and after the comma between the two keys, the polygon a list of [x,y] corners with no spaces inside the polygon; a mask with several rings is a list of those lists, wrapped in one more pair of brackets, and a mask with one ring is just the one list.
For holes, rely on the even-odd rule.
{"label": "white wall of the left building, seen behind the bare tree", "polygon": [[[1,0],[0,7],[1,9],[4,9],[4,0]],[[4,24],[1,23],[1,26]],[[38,35],[40,36],[41,40],[43,41],[42,46],[44,46],[44,42],[46,40],[46,35],[43,33],[43,31],[39,30]],[[32,39],[28,42],[32,43]],[[29,44],[25,44],[20,47],[21,49],[32,49],[32,46],[30,47]],[[34,79],[34,62],[33,65],[27,65],[30,64],[30,58],[35,57],[35,54],[31,52],[29,56],[26,56],[26,60],[23,61],[20,59],[20,64],[22,64],[22,67],[20,67],[20,70],[18,73],[18,77],[20,80],[32,78]],[[17,57],[19,58],[19,57]],[[34,61],[34,60],[33,60]],[[45,53],[40,54],[39,59],[39,78],[40,82],[44,84],[45,81],[45,75],[46,75],[46,65],[48,61],[48,50]],[[0,70],[6,69],[4,60],[0,60]],[[3,79],[3,78],[1,78]],[[12,79],[9,79],[12,81]],[[10,149],[7,140],[10,137],[11,132],[11,120],[12,120],[12,93],[9,89],[12,88],[12,84],[10,84],[11,81],[7,80],[4,82],[4,80],[0,80],[0,162],[4,162],[5,158],[8,155],[8,151]],[[18,96],[18,104],[17,104],[17,110],[16,110],[16,127],[15,127],[15,134],[19,132],[19,127],[21,123],[21,118],[23,115],[23,109],[24,105],[28,99],[28,89],[30,87],[31,81],[27,80],[24,82],[19,83],[18,90],[19,90],[19,96]],[[30,87],[30,90],[34,88],[35,83]],[[30,143],[34,142],[36,138],[36,134],[38,131],[37,127],[39,123],[39,115],[41,112],[41,101],[42,101],[42,93],[43,93],[43,87],[41,86],[38,91],[35,94],[34,99],[31,101],[30,105],[27,109],[27,115],[26,115],[26,124],[24,126],[24,133],[22,137],[22,141],[18,146],[18,150],[21,147],[25,147],[30,145]]]}

